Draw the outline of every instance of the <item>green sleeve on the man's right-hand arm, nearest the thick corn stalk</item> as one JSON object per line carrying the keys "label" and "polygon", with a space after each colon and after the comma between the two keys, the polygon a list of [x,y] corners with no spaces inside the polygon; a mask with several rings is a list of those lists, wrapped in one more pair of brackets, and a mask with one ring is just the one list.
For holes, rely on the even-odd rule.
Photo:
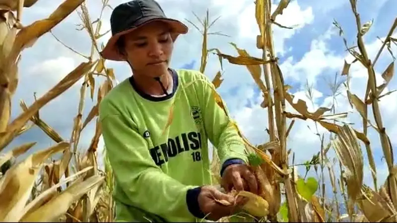
{"label": "green sleeve on the man's right-hand arm, nearest the thick corn stalk", "polygon": [[[202,112],[204,128],[208,139],[218,151],[222,174],[223,169],[228,165],[248,163],[245,143],[233,125],[231,117],[217,104],[213,92],[214,85],[205,75],[201,74],[201,76],[204,79],[200,95],[201,108],[204,108]],[[228,111],[225,102],[222,103]]]}

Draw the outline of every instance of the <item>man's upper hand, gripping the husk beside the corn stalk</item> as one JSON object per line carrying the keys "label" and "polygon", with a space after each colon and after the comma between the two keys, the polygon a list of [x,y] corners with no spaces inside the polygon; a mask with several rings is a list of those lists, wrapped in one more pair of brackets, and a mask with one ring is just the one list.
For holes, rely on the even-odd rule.
{"label": "man's upper hand, gripping the husk beside the corn stalk", "polygon": [[225,168],[221,181],[222,187],[230,192],[232,188],[236,191],[250,191],[258,194],[258,179],[245,164],[232,164]]}

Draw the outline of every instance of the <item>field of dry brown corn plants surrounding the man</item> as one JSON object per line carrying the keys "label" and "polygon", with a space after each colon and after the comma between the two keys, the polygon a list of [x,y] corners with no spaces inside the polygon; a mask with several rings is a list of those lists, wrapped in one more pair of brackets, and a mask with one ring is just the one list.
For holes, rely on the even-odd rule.
{"label": "field of dry brown corn plants surrounding the man", "polygon": [[[0,0],[0,220],[2,222],[112,222],[114,202],[111,194],[114,176],[106,156],[105,158],[98,157],[101,126],[97,119],[99,103],[116,82],[113,68],[107,67],[105,60],[99,54],[103,45],[98,43],[98,39],[107,33],[100,33],[102,12],[107,7],[111,8],[111,5],[109,5],[109,0],[101,0],[100,16],[91,20],[84,0],[64,0],[48,18],[34,21],[29,25],[21,24],[22,12],[33,10],[32,6],[36,1]],[[305,101],[298,100],[295,103],[294,95],[289,92],[291,87],[284,83],[282,70],[274,50],[274,41],[277,40],[273,40],[272,36],[272,27],[282,26],[275,21],[277,16],[283,13],[283,9],[288,6],[290,0],[281,0],[275,10],[271,9],[270,0],[255,1],[255,18],[259,28],[255,45],[263,51],[262,58],[250,56],[246,50],[239,48],[235,43],[230,45],[236,50],[237,56],[223,54],[220,49],[207,49],[209,35],[222,35],[209,31],[215,21],[209,21],[208,11],[204,19],[199,20],[203,25],[202,29],[188,21],[202,34],[199,70],[205,73],[210,55],[219,59],[220,70],[212,80],[215,86],[214,97],[218,105],[224,108],[224,102],[216,89],[223,81],[222,62],[227,60],[231,64],[246,66],[263,95],[264,101],[261,106],[267,111],[268,116],[268,123],[264,128],[269,134],[269,141],[261,145],[250,143],[239,130],[238,123],[232,122],[246,143],[250,168],[257,175],[263,192],[257,196],[240,193],[240,196],[250,199],[249,203],[243,207],[243,213],[223,218],[219,222],[397,221],[397,166],[393,160],[393,147],[387,134],[388,131],[382,122],[379,107],[379,99],[392,93],[385,93],[384,89],[393,77],[394,60],[388,67],[385,67],[382,73],[384,83],[376,83],[374,70],[385,48],[393,55],[391,45],[397,45],[397,39],[392,35],[397,28],[397,18],[392,21],[390,31],[383,40],[379,52],[376,55],[368,55],[363,36],[370,29],[371,23],[361,23],[356,0],[346,1],[350,2],[355,18],[357,46],[348,46],[344,38],[342,41],[346,51],[354,57],[353,63],[361,64],[367,71],[365,98],[360,99],[349,90],[351,63],[345,61],[344,64],[340,64],[340,75],[347,78],[344,83],[347,98],[352,108],[362,117],[362,130],[353,129],[349,124],[339,121],[347,117],[347,112],[336,113],[333,107],[319,108],[317,111],[310,112]],[[90,55],[86,56],[69,48],[74,53],[83,56],[86,61],[76,66],[46,94],[35,99],[31,105],[20,101],[19,106],[23,112],[11,120],[11,108],[15,109],[15,105],[11,105],[11,99],[18,86],[18,63],[22,52],[34,47],[35,41],[43,35],[52,34],[51,30],[75,11],[81,19],[81,30],[87,32],[92,41]],[[336,21],[333,24],[342,34],[342,27]],[[54,38],[57,37],[54,36]],[[41,117],[39,111],[79,81],[82,81],[82,84],[73,128],[70,132],[70,139],[64,139],[46,123],[45,117]],[[91,108],[88,115],[83,116],[87,91],[92,100],[96,99],[96,105]],[[308,95],[311,95],[310,87],[308,87]],[[287,111],[287,106],[291,106],[294,111]],[[372,109],[373,117],[368,116],[369,108]],[[225,112],[227,113],[227,110]],[[370,121],[372,118],[375,123]],[[321,125],[330,134],[329,142],[324,134],[318,134],[321,142],[319,153],[304,164],[306,171],[309,171],[311,167],[314,167],[316,172],[319,170],[318,179],[298,174],[298,165],[294,164],[296,151],[287,150],[286,145],[288,134],[294,123],[307,119],[313,120],[316,126]],[[78,147],[81,132],[91,122],[95,123],[95,133],[89,147],[84,148],[83,153],[80,153]],[[171,122],[172,112],[169,116],[169,123]],[[29,131],[34,125],[45,132],[56,144],[30,153],[29,150],[37,142],[26,142],[10,149],[9,152],[2,152],[16,137]],[[377,184],[377,169],[371,143],[367,137],[368,126],[374,128],[379,134],[388,167],[388,177],[382,185]],[[364,146],[362,147],[361,144]],[[363,183],[364,147],[374,188]],[[338,165],[333,165],[328,159],[330,150],[334,150]],[[212,179],[213,184],[219,184],[219,160],[216,150],[213,151]],[[24,154],[28,155],[27,158],[17,161],[18,157]],[[104,159],[104,170],[98,167],[99,159]],[[335,175],[336,167],[340,168],[339,176]],[[331,180],[331,185],[325,183],[326,174]],[[333,197],[327,198],[326,190],[330,186]],[[223,205],[230,205],[226,201],[219,202]]]}

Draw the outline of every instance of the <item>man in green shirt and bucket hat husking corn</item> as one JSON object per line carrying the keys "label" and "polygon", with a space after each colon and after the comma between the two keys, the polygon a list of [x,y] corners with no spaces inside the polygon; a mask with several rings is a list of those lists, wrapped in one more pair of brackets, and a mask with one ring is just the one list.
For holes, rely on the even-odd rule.
{"label": "man in green shirt and bucket hat husking corn", "polygon": [[112,38],[101,54],[127,61],[133,73],[99,108],[116,179],[115,221],[196,222],[230,216],[246,201],[210,186],[207,139],[217,148],[226,191],[258,193],[258,183],[246,166],[242,139],[214,99],[212,83],[198,71],[169,67],[173,44],[188,28],[167,18],[154,0],[122,3],[110,22]]}

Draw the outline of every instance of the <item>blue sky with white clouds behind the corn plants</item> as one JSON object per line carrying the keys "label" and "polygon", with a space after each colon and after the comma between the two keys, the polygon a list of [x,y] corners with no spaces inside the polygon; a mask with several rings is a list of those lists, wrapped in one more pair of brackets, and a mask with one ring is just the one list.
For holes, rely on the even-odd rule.
{"label": "blue sky with white clouds behind the corn plants", "polygon": [[[382,45],[378,37],[384,39],[396,18],[397,9],[393,7],[394,1],[358,1],[358,11],[362,23],[371,19],[374,21],[369,32],[364,36],[368,55],[371,59],[374,59]],[[110,5],[115,7],[122,2],[121,0],[110,0]],[[251,56],[262,57],[262,51],[256,48],[256,37],[259,34],[259,29],[255,20],[255,4],[253,0],[158,0],[158,2],[167,16],[181,20],[190,28],[189,33],[180,36],[175,43],[171,67],[199,69],[202,36],[185,19],[199,24],[193,12],[203,19],[207,9],[209,9],[211,21],[220,16],[211,27],[211,32],[220,31],[229,36],[209,36],[208,49],[217,48],[222,53],[237,56],[237,52],[229,44],[232,42],[239,48],[247,50]],[[272,10],[276,8],[277,3],[278,1],[272,2]],[[46,18],[58,7],[58,4],[59,1],[39,0],[34,6],[24,11],[22,23],[27,25],[37,19]],[[95,20],[100,13],[101,1],[87,0],[87,7],[91,20]],[[106,8],[103,13],[100,33],[110,29],[110,14],[111,9]],[[334,19],[342,26],[344,37],[349,46],[353,46],[356,43],[357,29],[348,0],[291,0],[288,7],[284,9],[283,14],[276,17],[276,22],[283,26],[293,26],[294,28],[285,29],[273,25],[275,52],[279,58],[284,82],[292,86],[290,92],[294,94],[295,99],[306,101],[309,111],[315,111],[319,107],[331,107],[332,97],[328,83],[334,80],[335,75],[338,82],[345,81],[346,76],[340,75],[344,59],[347,61],[352,60],[351,56],[348,56],[345,51],[342,37],[338,35],[338,29],[332,25]],[[91,42],[86,31],[77,30],[79,28],[77,24],[79,23],[81,21],[78,14],[73,12],[52,31],[68,47],[84,55],[89,55]],[[106,44],[110,36],[111,34],[108,33],[99,39],[98,42]],[[392,49],[396,55],[396,45],[393,46],[392,44]],[[21,112],[19,107],[20,100],[24,100],[25,103],[30,105],[34,101],[34,92],[36,97],[44,95],[68,72],[83,61],[86,61],[86,59],[71,52],[50,33],[39,38],[31,48],[24,50],[19,64],[18,88],[12,100],[12,118]],[[385,50],[375,67],[378,85],[383,82],[381,74],[392,61],[393,58]],[[114,69],[119,82],[131,75],[131,70],[126,63],[107,61],[106,66]],[[218,57],[209,55],[204,74],[212,79],[219,69]],[[267,142],[268,135],[265,131],[267,127],[267,110],[260,106],[263,96],[255,85],[250,73],[246,67],[230,64],[227,60],[223,61],[223,72],[224,81],[218,88],[218,92],[242,133],[252,144]],[[366,69],[356,62],[351,65],[350,75],[351,92],[363,98],[367,82]],[[262,76],[262,78],[264,77]],[[104,79],[97,78],[96,86],[103,81]],[[43,120],[65,140],[70,139],[73,118],[76,116],[78,109],[81,83],[82,80],[40,110],[40,116]],[[313,103],[306,96],[306,83],[313,86]],[[397,81],[394,78],[384,93],[396,89],[396,85]],[[83,119],[87,116],[92,106],[96,104],[96,100],[91,101],[89,91],[87,92]],[[340,88],[340,93],[336,97],[336,111],[347,111],[348,116],[344,121],[353,123],[352,126],[362,132],[362,119],[359,113],[350,107],[346,97],[346,89],[343,85]],[[396,102],[397,93],[385,96],[379,102],[384,126],[394,146],[397,145],[397,138],[393,137],[397,134],[397,123],[394,115],[397,111]],[[297,113],[290,105],[287,105],[287,111]],[[369,111],[370,120],[375,123],[370,108]],[[289,124],[290,121],[288,120],[287,123]],[[318,131],[320,134],[325,133],[326,139],[329,137],[327,131],[321,126],[318,126]],[[91,122],[82,132],[79,144],[81,151],[87,149],[94,132],[95,123]],[[374,129],[369,128],[368,138],[371,141],[371,148],[377,166],[378,184],[383,184],[388,170],[386,162],[382,160],[383,152],[379,135]],[[30,153],[47,148],[55,143],[39,128],[33,127],[15,138],[5,151],[27,142],[37,142]],[[316,135],[315,123],[310,120],[296,119],[287,141],[287,149],[292,149],[295,153],[295,164],[311,160],[311,157],[319,152],[320,145],[319,137]],[[367,154],[365,147],[362,144],[361,146],[363,148],[365,166],[364,182],[372,186]],[[102,150],[102,148],[103,140],[101,139],[99,150]],[[99,152],[100,154],[102,153],[102,151]],[[329,152],[329,157],[334,157],[332,148]],[[394,157],[396,159],[396,155]],[[291,160],[292,157],[290,157],[290,162],[292,162]],[[335,167],[337,166],[335,165]],[[338,168],[335,170],[338,170]],[[304,167],[301,167],[299,172],[304,173]],[[315,175],[315,173],[311,171],[309,175]]]}

